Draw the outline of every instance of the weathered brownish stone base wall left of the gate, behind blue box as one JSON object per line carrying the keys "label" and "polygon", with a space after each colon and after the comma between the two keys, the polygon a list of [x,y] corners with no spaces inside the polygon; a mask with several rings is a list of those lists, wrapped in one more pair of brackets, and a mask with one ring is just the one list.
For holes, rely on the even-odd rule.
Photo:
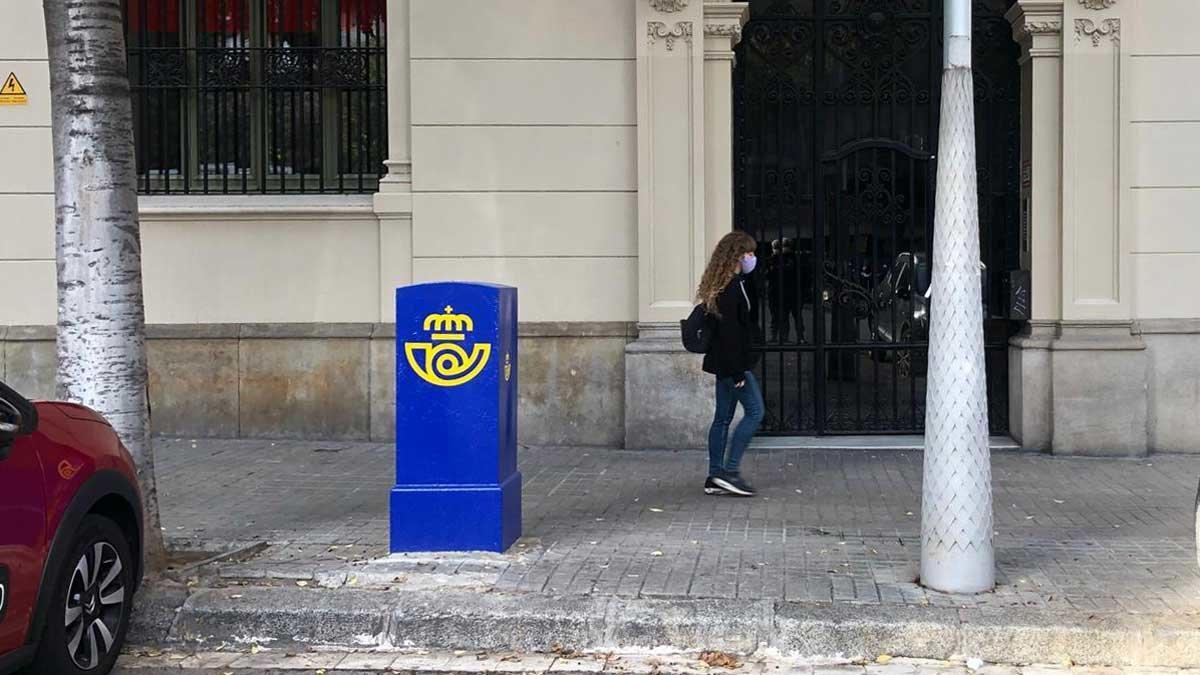
{"label": "weathered brownish stone base wall left of the gate, behind blue box", "polygon": [[[520,441],[620,447],[625,323],[521,325]],[[391,441],[391,324],[150,325],[156,434],[184,437]],[[54,396],[54,329],[0,327],[0,378]]]}

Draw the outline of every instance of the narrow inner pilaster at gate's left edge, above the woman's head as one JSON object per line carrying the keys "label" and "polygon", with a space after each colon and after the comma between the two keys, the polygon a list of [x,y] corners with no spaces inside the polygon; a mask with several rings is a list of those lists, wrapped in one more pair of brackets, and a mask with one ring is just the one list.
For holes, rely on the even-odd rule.
{"label": "narrow inner pilaster at gate's left edge, above the woman's head", "polygon": [[704,2],[704,255],[733,228],[733,47],[746,2]]}

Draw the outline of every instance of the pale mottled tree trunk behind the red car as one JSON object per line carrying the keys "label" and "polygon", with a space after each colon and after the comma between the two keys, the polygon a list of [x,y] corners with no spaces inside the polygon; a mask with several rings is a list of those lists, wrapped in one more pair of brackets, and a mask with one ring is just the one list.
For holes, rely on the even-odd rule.
{"label": "pale mottled tree trunk behind the red car", "polygon": [[58,396],[95,408],[133,455],[146,569],[163,562],[146,400],[133,113],[121,0],[44,0],[59,280]]}

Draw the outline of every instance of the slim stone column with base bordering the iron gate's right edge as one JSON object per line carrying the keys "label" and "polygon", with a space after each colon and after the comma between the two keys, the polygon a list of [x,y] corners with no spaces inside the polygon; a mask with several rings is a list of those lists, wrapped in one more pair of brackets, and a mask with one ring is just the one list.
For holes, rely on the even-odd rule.
{"label": "slim stone column with base bordering the iron gate's right edge", "polygon": [[1009,348],[1009,423],[1025,448],[1052,440],[1050,345],[1062,319],[1062,2],[1018,0],[1007,18],[1021,46],[1021,269],[1028,324]]}

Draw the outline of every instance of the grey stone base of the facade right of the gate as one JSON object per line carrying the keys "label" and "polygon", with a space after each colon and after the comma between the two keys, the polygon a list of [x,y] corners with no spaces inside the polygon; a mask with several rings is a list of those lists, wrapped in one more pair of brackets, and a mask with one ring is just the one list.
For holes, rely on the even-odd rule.
{"label": "grey stone base of the facade right of the gate", "polygon": [[1027,449],[1200,454],[1200,319],[1031,325],[1009,348],[1009,382]]}

